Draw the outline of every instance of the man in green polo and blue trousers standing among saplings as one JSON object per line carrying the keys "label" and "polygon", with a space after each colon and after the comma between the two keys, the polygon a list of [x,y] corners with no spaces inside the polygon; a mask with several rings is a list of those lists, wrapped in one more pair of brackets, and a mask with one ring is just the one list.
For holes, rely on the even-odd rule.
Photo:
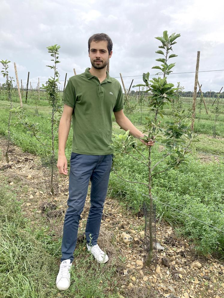
{"label": "man in green polo and blue trousers standing among saplings", "polygon": [[[80,215],[84,208],[91,181],[91,207],[85,236],[87,250],[99,263],[108,261],[108,256],[97,244],[103,205],[106,198],[112,166],[112,150],[108,148],[112,137],[112,112],[116,122],[136,138],[145,136],[123,113],[121,85],[106,72],[112,56],[112,40],[106,34],[94,34],[88,40],[91,69],[70,77],[63,93],[64,110],[58,129],[58,170],[67,175],[65,145],[71,117],[73,124],[72,153],[70,158],[68,209],[64,218],[61,244],[61,265],[56,279],[58,289],[70,286],[70,267],[77,242]],[[154,141],[145,143],[152,146]]]}

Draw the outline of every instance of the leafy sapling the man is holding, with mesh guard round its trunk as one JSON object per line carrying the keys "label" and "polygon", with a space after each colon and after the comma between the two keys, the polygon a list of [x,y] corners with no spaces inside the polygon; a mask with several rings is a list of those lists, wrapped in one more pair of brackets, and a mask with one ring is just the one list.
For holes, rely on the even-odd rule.
{"label": "leafy sapling the man is holding, with mesh guard round its trunk", "polygon": [[[140,138],[145,142],[149,142],[150,139],[160,141],[164,144],[165,149],[161,154],[161,159],[154,163],[154,158],[152,158],[154,148],[149,146],[147,149],[143,142],[136,141],[136,138],[129,135],[129,131],[122,134],[113,134],[113,142],[110,148],[113,150],[114,159],[112,169],[115,174],[124,180],[118,173],[119,171],[119,158],[122,158],[125,155],[129,155],[138,162],[144,164],[148,168],[148,183],[143,183],[139,181],[129,181],[124,180],[130,183],[140,183],[148,188],[149,197],[149,220],[145,218],[145,245],[146,247],[146,258],[144,259],[144,265],[149,267],[152,264],[155,264],[154,250],[156,254],[156,247],[154,247],[156,240],[153,239],[153,197],[151,193],[153,178],[158,174],[177,169],[179,166],[188,168],[190,159],[188,158],[192,153],[189,152],[194,141],[199,141],[196,139],[197,135],[193,135],[189,122],[184,119],[183,113],[176,113],[173,121],[166,122],[166,128],[162,129],[160,127],[161,120],[158,119],[160,116],[163,119],[163,109],[165,106],[171,108],[170,103],[173,100],[176,100],[176,91],[177,88],[174,88],[172,83],[167,82],[167,76],[172,72],[172,68],[175,66],[175,63],[168,64],[170,58],[176,57],[176,54],[169,54],[172,51],[172,45],[176,42],[174,41],[180,37],[180,34],[171,34],[168,36],[167,31],[163,32],[163,37],[156,37],[160,40],[162,45],[159,48],[164,49],[156,51],[157,54],[161,54],[164,58],[158,58],[156,61],[162,62],[161,66],[154,66],[153,69],[160,69],[163,77],[153,78],[149,80],[149,72],[143,73],[144,84],[138,84],[133,87],[142,86],[146,87],[145,92],[151,92],[149,96],[149,107],[151,107],[151,112],[154,112],[154,120],[149,117],[146,117],[148,121],[144,125],[143,133],[145,134],[144,138]],[[148,150],[147,155],[143,154],[144,151]],[[133,153],[136,153],[133,155]],[[136,157],[137,156],[137,157]],[[156,171],[157,166],[160,163],[164,163],[162,171]],[[154,163],[154,164],[153,164]],[[148,201],[145,200],[143,203],[145,214],[148,212]],[[149,236],[146,233],[146,224],[148,223]]]}

